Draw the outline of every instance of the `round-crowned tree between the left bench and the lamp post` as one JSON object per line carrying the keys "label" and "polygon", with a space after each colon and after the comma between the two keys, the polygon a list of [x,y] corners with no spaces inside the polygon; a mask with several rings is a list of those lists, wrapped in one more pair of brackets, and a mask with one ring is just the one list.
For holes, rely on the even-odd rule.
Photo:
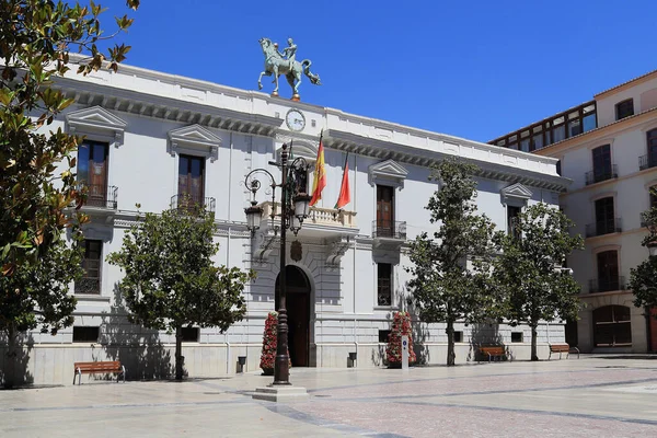
{"label": "round-crowned tree between the left bench and the lamp post", "polygon": [[107,256],[125,277],[118,290],[130,321],[175,333],[175,378],[183,378],[183,327],[227,331],[246,312],[242,291],[254,274],[215,266],[215,215],[203,207],[146,214],[124,235],[120,251]]}

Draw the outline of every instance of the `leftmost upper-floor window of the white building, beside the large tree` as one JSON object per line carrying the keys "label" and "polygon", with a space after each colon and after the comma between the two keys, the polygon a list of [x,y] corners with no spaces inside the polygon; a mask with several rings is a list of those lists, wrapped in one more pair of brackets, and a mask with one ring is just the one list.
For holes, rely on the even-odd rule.
{"label": "leftmost upper-floor window of the white building, beside the large tree", "polygon": [[108,145],[84,140],[78,148],[78,181],[85,186],[87,205],[107,205],[107,150]]}

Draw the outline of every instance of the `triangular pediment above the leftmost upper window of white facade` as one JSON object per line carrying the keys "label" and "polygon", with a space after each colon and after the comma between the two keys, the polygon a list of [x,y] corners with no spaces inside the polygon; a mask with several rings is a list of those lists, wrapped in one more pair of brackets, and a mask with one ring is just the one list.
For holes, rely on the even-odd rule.
{"label": "triangular pediment above the leftmost upper window of white facade", "polygon": [[115,147],[124,142],[128,124],[101,106],[74,111],[66,115],[68,131],[73,135],[102,134],[112,137]]}

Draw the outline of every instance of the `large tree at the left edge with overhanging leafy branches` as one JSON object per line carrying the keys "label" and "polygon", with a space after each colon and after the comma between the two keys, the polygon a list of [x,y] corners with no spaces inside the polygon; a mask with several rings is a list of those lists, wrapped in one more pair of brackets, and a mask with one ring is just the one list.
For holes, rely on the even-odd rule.
{"label": "large tree at the left edge with overhanging leafy branches", "polygon": [[[139,1],[127,4],[137,9]],[[105,60],[116,69],[130,48],[99,50],[96,43],[113,36],[102,36],[101,13],[93,3],[0,0],[0,334],[10,364],[19,332],[43,324],[56,333],[72,324],[76,300],[67,286],[80,274],[76,239],[88,218],[66,209],[84,200],[71,157],[80,139],[46,127],[73,102],[51,87],[70,69],[70,50],[89,55],[78,69],[87,74]],[[117,32],[131,22],[117,18]],[[62,237],[67,229],[72,247]]]}

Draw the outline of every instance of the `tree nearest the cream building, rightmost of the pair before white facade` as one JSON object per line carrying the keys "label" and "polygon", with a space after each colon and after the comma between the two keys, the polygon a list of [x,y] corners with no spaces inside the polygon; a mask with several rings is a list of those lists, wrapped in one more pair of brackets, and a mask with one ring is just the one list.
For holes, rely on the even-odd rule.
{"label": "tree nearest the cream building, rightmost of the pair before white facade", "polygon": [[531,327],[531,360],[537,355],[540,321],[574,320],[579,310],[579,285],[562,265],[574,251],[584,247],[580,235],[572,237],[573,222],[544,203],[520,212],[515,233],[497,234],[500,251],[494,284],[505,297],[505,316],[511,324]]}

